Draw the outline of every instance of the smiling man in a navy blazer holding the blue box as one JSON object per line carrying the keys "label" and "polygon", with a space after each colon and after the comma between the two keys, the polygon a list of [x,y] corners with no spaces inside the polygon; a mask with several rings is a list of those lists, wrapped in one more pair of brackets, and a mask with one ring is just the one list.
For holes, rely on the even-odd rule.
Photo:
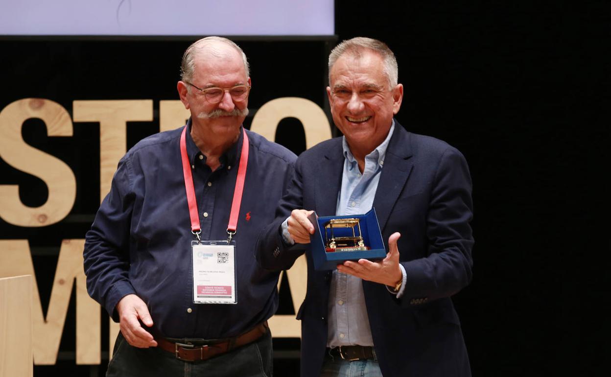
{"label": "smiling man in a navy blazer holding the blue box", "polygon": [[[304,250],[307,295],[302,376],[470,376],[450,296],[471,280],[471,179],[456,148],[409,133],[393,115],[403,99],[395,56],[353,38],[329,56],[327,95],[343,137],[299,156],[276,220],[257,243],[269,270]],[[375,208],[388,251],[315,271],[308,216]]]}

